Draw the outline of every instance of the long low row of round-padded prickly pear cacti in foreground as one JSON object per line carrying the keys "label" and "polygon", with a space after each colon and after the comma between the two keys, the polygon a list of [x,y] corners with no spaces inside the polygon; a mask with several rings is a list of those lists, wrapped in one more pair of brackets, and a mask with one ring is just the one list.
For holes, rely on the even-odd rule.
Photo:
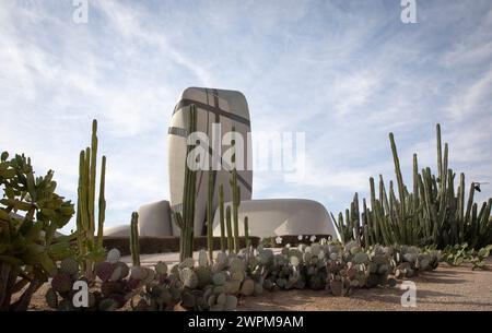
{"label": "long low row of round-padded prickly pear cacti in foreground", "polygon": [[[414,246],[362,248],[355,241],[342,245],[321,239],[309,246],[285,246],[279,253],[262,246],[239,253],[221,251],[212,261],[201,250],[198,260],[187,258],[171,270],[163,262],[153,269],[134,265],[130,270],[119,257],[110,250],[107,260],[96,265],[99,289],[91,292],[90,309],[116,310],[129,300],[136,311],[166,311],[176,306],[231,311],[242,297],[265,289],[308,288],[349,296],[358,288],[393,287],[397,280],[435,270],[442,254]],[[62,261],[46,294],[47,302],[59,310],[73,309],[72,285],[80,276],[77,261]]]}

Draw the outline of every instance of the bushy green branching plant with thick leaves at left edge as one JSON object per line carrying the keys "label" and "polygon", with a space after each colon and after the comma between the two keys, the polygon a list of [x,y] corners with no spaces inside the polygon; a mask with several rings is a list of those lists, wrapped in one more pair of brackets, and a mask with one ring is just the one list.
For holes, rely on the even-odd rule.
{"label": "bushy green branching plant with thick leaves at left edge", "polygon": [[[57,237],[74,210],[55,190],[54,171],[35,177],[31,159],[0,158],[0,310],[26,310],[33,294],[52,276],[56,261],[72,254],[72,237]],[[22,292],[12,302],[12,295]]]}

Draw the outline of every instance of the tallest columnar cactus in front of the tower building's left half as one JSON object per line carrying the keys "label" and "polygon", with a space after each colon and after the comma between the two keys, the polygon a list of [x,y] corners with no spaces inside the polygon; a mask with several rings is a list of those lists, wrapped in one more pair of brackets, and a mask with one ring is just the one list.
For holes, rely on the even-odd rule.
{"label": "tallest columnar cactus in front of the tower building's left half", "polygon": [[[189,118],[187,134],[190,135],[197,131],[197,109],[195,105],[189,106]],[[187,145],[185,158],[185,185],[183,190],[183,212],[173,212],[176,225],[180,229],[179,238],[179,258],[184,261],[192,258],[194,254],[194,221],[195,221],[195,200],[197,192],[197,171],[191,164],[196,163],[192,156],[192,145]]]}

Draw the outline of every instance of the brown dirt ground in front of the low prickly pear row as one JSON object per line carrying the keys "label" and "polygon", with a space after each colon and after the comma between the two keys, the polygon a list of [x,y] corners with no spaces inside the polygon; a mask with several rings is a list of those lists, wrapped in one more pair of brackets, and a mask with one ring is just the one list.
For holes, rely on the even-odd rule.
{"label": "brown dirt ground in front of the low prickly pear row", "polygon": [[[471,271],[442,263],[434,272],[412,278],[417,285],[417,307],[401,306],[405,290],[395,288],[356,289],[350,297],[333,297],[325,290],[278,290],[242,298],[239,311],[492,311],[492,258],[487,271]],[[31,310],[47,310],[45,284],[33,297]],[[128,309],[128,307],[127,307]]]}

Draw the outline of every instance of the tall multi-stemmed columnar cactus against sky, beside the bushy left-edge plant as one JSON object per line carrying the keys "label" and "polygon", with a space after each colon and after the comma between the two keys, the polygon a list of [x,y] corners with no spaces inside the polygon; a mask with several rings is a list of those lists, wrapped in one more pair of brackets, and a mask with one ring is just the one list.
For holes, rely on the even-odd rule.
{"label": "tall multi-stemmed columnar cactus against sky, beside the bushy left-edge plant", "polygon": [[106,177],[106,156],[103,156],[99,198],[98,198],[98,218],[97,218],[97,238],[95,234],[95,183],[96,183],[96,163],[97,163],[97,121],[92,122],[91,147],[80,152],[79,159],[79,188],[78,188],[78,206],[77,206],[77,235],[79,255],[84,262],[84,269],[87,276],[91,277],[94,270],[93,259],[104,258],[103,233],[104,219],[106,211],[105,177]]}

